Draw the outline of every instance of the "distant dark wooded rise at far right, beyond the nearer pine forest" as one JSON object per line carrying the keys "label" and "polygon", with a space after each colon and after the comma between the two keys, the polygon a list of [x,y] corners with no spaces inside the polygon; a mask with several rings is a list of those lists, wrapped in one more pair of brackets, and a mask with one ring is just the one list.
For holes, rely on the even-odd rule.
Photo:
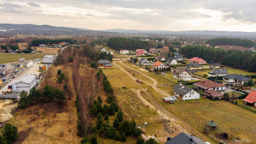
{"label": "distant dark wooded rise at far right, beyond the nearer pine forest", "polygon": [[214,38],[206,41],[206,44],[209,44],[213,47],[218,45],[236,45],[251,48],[255,46],[255,43],[251,40],[241,40],[239,38]]}

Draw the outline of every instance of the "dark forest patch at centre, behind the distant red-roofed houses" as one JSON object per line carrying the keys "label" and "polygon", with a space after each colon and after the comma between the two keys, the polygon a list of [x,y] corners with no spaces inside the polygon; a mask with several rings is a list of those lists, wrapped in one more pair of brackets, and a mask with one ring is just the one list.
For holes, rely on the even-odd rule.
{"label": "dark forest patch at centre, behind the distant red-roofed houses", "polygon": [[113,48],[116,51],[119,50],[136,50],[137,48],[149,49],[153,47],[150,43],[141,40],[132,40],[129,38],[109,38],[108,47]]}

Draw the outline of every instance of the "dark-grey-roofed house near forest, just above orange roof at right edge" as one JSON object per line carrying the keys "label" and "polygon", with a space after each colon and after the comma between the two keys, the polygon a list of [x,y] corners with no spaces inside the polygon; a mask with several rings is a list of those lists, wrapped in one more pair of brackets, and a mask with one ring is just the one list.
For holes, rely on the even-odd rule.
{"label": "dark-grey-roofed house near forest, just above orange roof at right edge", "polygon": [[228,74],[223,76],[223,80],[228,83],[243,84],[250,80],[248,77],[239,74]]}

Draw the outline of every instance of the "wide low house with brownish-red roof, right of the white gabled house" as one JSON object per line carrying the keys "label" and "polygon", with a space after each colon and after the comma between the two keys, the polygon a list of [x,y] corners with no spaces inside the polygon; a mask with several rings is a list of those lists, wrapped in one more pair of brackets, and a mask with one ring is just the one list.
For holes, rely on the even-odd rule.
{"label": "wide low house with brownish-red roof, right of the white gabled house", "polygon": [[216,81],[204,80],[202,82],[196,82],[193,84],[201,91],[208,91],[213,89],[214,91],[225,91],[226,86],[224,84],[218,84]]}

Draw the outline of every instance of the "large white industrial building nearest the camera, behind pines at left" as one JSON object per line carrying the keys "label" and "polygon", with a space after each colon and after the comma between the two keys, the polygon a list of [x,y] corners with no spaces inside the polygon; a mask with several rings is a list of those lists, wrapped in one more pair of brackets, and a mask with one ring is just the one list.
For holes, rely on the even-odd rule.
{"label": "large white industrial building nearest the camera, behind pines at left", "polygon": [[13,92],[29,92],[32,87],[36,86],[36,75],[23,75],[13,83]]}

